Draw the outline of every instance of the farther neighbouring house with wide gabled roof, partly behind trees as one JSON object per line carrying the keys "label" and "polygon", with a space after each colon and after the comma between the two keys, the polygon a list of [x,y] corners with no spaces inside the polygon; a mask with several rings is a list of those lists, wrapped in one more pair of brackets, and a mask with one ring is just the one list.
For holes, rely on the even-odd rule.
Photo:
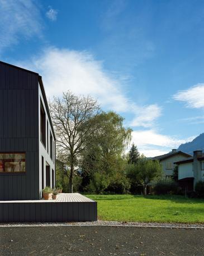
{"label": "farther neighbouring house with wide gabled roof, partly behind trees", "polygon": [[151,158],[154,160],[159,160],[160,164],[162,164],[162,170],[164,172],[164,175],[167,179],[171,178],[173,176],[173,171],[175,164],[174,162],[181,161],[184,158],[189,158],[191,155],[184,153],[182,151],[177,151],[177,149],[172,149],[171,152],[167,154],[163,154],[162,156],[157,156]]}

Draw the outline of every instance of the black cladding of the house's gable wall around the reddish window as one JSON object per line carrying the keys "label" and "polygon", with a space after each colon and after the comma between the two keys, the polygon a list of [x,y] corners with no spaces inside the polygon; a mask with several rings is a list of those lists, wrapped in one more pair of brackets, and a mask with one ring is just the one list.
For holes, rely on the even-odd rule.
{"label": "black cladding of the house's gable wall around the reddish window", "polygon": [[0,200],[40,199],[38,77],[0,62],[0,152],[26,153],[26,173],[0,173]]}

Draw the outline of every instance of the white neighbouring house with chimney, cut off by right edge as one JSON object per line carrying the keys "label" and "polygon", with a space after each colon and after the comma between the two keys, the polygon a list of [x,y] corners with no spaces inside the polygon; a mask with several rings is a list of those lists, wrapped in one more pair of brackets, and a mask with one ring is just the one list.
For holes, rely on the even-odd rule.
{"label": "white neighbouring house with chimney, cut off by right edge", "polygon": [[194,190],[198,181],[204,181],[204,154],[193,152],[193,157],[175,162],[178,164],[178,182],[183,189]]}

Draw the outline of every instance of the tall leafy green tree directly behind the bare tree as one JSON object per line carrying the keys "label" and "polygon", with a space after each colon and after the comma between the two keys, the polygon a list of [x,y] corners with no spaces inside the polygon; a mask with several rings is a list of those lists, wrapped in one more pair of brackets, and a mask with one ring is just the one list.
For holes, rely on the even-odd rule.
{"label": "tall leafy green tree directly behind the bare tree", "polygon": [[[87,186],[92,180],[101,175],[101,179],[112,182],[116,173],[122,172],[125,159],[125,149],[131,139],[131,129],[125,129],[123,126],[124,118],[115,112],[102,112],[93,118],[97,122],[98,131],[93,135],[94,140],[83,153],[82,170],[83,186]],[[84,182],[86,181],[86,182]],[[96,182],[91,182],[91,185]],[[107,184],[108,186],[109,184]],[[100,186],[97,186],[97,189]],[[105,190],[104,188],[103,190]]]}

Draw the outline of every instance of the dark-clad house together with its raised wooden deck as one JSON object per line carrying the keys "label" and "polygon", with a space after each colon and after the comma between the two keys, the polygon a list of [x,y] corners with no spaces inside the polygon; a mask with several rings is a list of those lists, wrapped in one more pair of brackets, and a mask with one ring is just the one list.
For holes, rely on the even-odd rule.
{"label": "dark-clad house together with its raised wooden deck", "polygon": [[55,187],[55,133],[42,77],[0,61],[0,222],[93,221],[97,202]]}

